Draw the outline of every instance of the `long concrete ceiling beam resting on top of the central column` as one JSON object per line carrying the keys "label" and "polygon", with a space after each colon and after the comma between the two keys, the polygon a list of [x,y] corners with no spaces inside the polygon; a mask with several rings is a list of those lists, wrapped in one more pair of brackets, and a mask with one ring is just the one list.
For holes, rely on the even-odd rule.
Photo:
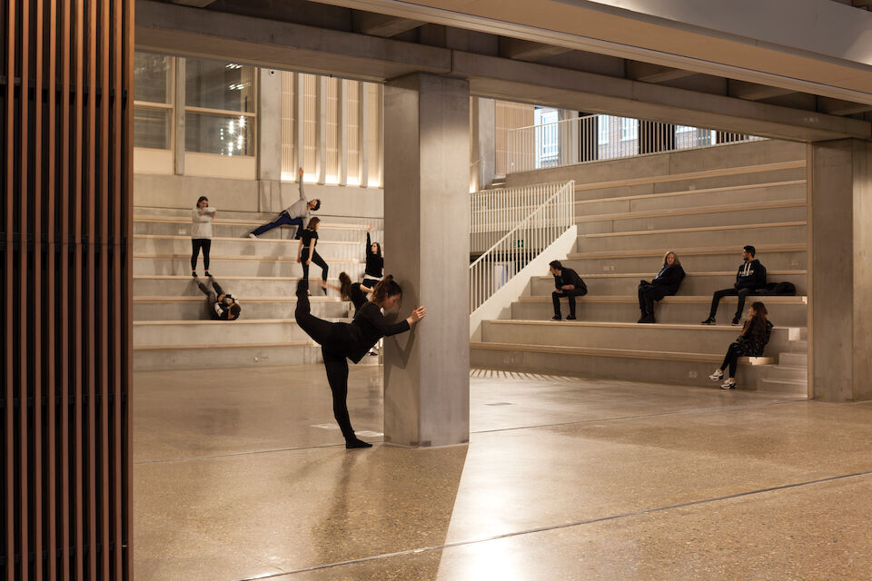
{"label": "long concrete ceiling beam resting on top of the central column", "polygon": [[872,136],[847,117],[149,0],[136,3],[135,25],[137,48],[165,54],[371,81],[451,74],[478,96],[798,141]]}

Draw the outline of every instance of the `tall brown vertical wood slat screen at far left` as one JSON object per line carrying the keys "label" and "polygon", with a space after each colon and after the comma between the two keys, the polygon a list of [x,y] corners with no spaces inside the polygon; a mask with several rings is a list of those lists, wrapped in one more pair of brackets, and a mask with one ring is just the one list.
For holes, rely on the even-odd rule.
{"label": "tall brown vertical wood slat screen at far left", "polygon": [[0,579],[129,579],[134,3],[0,2]]}

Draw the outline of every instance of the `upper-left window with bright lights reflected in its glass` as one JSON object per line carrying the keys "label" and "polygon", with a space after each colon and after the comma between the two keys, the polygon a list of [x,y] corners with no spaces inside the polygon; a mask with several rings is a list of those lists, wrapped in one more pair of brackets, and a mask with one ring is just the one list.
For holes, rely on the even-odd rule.
{"label": "upper-left window with bright lights reflected in its glass", "polygon": [[256,71],[237,63],[185,60],[185,151],[254,155]]}

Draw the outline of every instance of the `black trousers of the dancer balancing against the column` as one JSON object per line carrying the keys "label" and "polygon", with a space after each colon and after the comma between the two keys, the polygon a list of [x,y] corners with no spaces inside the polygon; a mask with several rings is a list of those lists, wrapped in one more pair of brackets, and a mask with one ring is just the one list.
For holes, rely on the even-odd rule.
{"label": "black trousers of the dancer balancing against the column", "polygon": [[333,397],[333,418],[342,430],[346,440],[355,438],[352,421],[348,417],[348,360],[340,346],[339,333],[346,323],[333,323],[312,315],[309,297],[297,295],[297,309],[294,317],[301,329],[321,345],[324,369]]}

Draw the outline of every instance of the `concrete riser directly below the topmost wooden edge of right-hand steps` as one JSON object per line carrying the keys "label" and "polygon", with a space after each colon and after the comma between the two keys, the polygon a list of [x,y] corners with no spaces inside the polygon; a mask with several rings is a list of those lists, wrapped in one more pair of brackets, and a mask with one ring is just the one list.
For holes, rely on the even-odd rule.
{"label": "concrete riser directly below the topmost wooden edge of right-hand steps", "polygon": [[[583,174],[580,176],[583,178]],[[567,177],[567,180],[576,179]],[[620,180],[620,177],[615,180]],[[575,200],[597,200],[600,198],[617,198],[624,196],[648,195],[651,193],[690,192],[693,190],[710,190],[770,182],[792,182],[805,180],[805,168],[775,170],[771,172],[736,173],[713,177],[698,177],[684,180],[658,181],[631,185],[615,185],[611,187],[590,188],[580,179],[576,179]],[[547,179],[545,181],[548,181]]]}

